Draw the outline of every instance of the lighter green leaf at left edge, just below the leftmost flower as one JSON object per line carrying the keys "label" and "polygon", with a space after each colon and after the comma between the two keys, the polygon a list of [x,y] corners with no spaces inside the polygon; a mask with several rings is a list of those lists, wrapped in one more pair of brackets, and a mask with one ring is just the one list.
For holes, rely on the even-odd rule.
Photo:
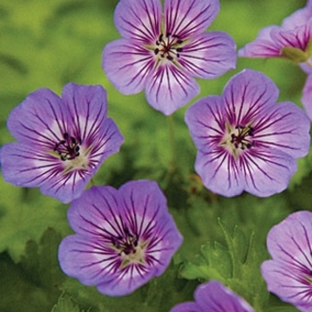
{"label": "lighter green leaf at left edge, just below the leftmost flower", "polygon": [[[67,206],[38,189],[9,185],[0,178],[0,252],[7,250],[13,261],[19,262],[26,242],[39,242],[47,227],[69,234]],[[5,194],[5,195],[4,195]]]}

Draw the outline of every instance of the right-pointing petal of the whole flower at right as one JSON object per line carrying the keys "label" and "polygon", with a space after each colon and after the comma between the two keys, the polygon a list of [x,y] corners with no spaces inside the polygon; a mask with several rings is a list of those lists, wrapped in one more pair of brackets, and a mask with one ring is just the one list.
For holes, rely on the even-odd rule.
{"label": "right-pointing petal of the whole flower at right", "polygon": [[259,113],[252,124],[257,146],[276,148],[293,158],[304,157],[310,146],[310,121],[293,103],[279,103]]}

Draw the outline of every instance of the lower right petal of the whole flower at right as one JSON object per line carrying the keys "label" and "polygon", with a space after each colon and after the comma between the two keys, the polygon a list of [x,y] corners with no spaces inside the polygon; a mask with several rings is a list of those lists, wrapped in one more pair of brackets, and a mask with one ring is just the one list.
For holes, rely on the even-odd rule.
{"label": "lower right petal of the whole flower at right", "polygon": [[296,160],[276,149],[251,148],[242,156],[245,190],[259,197],[283,192],[297,170]]}

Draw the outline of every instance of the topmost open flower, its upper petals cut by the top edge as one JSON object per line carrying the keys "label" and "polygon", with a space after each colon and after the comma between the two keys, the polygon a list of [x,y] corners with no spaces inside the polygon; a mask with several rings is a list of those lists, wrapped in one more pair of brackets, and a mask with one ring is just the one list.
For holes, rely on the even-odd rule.
{"label": "topmost open flower, its upper petals cut by the top edge", "polygon": [[106,45],[103,70],[122,94],[145,89],[148,103],[170,115],[199,94],[193,77],[217,78],[234,69],[235,44],[222,32],[203,32],[218,0],[120,0],[115,24],[122,39]]}

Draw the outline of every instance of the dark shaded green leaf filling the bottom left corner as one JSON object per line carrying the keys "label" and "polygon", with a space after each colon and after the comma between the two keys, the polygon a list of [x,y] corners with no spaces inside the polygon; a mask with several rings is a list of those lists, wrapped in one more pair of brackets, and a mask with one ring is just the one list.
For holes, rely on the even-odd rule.
{"label": "dark shaded green leaf filling the bottom left corner", "polygon": [[0,311],[49,311],[60,296],[64,275],[58,266],[61,235],[49,228],[40,241],[29,241],[19,264],[0,254]]}

